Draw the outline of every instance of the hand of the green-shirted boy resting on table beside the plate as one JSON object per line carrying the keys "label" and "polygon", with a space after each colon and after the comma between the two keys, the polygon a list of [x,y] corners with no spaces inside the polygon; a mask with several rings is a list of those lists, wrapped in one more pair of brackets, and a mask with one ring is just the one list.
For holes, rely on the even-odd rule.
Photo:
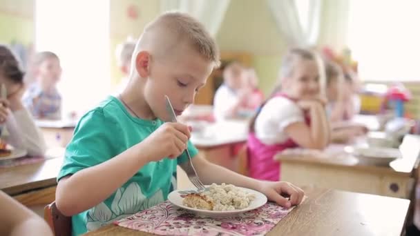
{"label": "hand of the green-shirted boy resting on table beside the plate", "polygon": [[[270,201],[276,201],[278,205],[285,208],[300,204],[305,196],[302,189],[285,181],[261,181],[259,190],[261,193],[265,194]],[[287,197],[289,199],[287,199]]]}

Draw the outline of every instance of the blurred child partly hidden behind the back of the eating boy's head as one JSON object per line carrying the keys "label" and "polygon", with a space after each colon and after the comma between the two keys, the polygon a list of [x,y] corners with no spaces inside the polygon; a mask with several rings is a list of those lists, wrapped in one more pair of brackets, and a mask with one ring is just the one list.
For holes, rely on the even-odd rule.
{"label": "blurred child partly hidden behind the back of the eating boy's head", "polygon": [[117,86],[117,92],[120,94],[126,88],[131,71],[131,56],[135,48],[135,41],[127,40],[117,46],[116,56],[118,67],[120,68],[122,77],[120,84]]}

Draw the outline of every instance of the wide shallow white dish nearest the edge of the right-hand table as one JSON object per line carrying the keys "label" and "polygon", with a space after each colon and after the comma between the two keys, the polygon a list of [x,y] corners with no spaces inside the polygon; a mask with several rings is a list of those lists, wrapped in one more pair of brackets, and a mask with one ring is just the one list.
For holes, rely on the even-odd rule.
{"label": "wide shallow white dish nearest the edge of the right-hand table", "polygon": [[388,166],[391,161],[401,158],[398,148],[353,147],[350,151],[361,164]]}

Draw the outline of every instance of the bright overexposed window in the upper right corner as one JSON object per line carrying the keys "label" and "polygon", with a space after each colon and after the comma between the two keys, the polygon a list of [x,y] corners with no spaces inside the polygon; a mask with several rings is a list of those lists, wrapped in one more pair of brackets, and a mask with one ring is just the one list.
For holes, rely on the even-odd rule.
{"label": "bright overexposed window in the upper right corner", "polygon": [[350,1],[349,46],[365,81],[420,81],[420,1]]}

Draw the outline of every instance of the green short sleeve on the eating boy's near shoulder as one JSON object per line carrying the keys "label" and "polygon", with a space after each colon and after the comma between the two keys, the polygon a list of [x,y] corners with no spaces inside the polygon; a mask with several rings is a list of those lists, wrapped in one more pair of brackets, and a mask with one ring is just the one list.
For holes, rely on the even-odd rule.
{"label": "green short sleeve on the eating boy's near shoulder", "polygon": [[57,181],[115,157],[119,148],[113,140],[119,133],[115,121],[105,117],[102,110],[92,110],[84,115],[66,148],[64,164]]}

